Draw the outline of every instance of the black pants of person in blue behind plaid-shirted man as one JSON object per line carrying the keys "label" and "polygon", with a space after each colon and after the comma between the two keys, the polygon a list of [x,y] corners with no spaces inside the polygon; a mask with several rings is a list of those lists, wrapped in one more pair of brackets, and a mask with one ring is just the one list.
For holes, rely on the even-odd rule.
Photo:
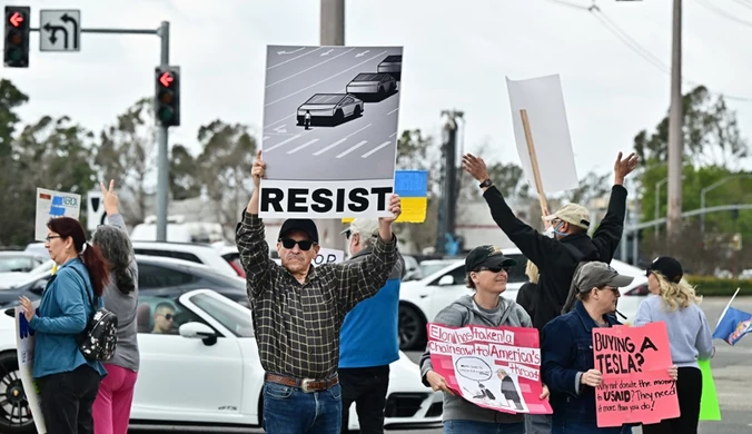
{"label": "black pants of person in blue behind plaid-shirted man", "polygon": [[389,387],[389,365],[340,368],[342,432],[347,433],[349,408],[355,403],[362,434],[384,434],[384,407]]}

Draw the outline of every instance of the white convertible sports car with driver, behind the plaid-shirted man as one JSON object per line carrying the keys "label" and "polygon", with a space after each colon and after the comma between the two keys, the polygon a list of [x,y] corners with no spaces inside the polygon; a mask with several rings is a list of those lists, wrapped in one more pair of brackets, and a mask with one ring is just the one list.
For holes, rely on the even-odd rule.
{"label": "white convertible sports car with driver, behind the plaid-shirted man", "polygon": [[[141,363],[131,427],[201,430],[221,424],[237,430],[260,425],[265,372],[250,310],[210,289],[139,296],[139,306],[149,310],[162,303],[175,308],[176,332],[152,334],[150,324],[139,320]],[[422,384],[418,366],[404,353],[399,357],[390,365],[385,425],[439,423],[442,394]],[[0,432],[34,433],[18,379],[13,309],[0,315],[0,381],[14,392],[3,394],[9,396],[6,406],[12,411],[0,412]],[[350,421],[349,427],[357,430],[357,414],[352,408]]]}

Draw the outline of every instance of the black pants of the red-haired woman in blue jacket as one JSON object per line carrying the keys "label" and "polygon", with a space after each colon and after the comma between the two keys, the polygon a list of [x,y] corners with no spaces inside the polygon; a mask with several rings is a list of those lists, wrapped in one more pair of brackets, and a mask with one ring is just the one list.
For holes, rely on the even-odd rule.
{"label": "black pants of the red-haired woman in blue jacket", "polygon": [[47,434],[93,434],[99,373],[89,365],[38,379]]}

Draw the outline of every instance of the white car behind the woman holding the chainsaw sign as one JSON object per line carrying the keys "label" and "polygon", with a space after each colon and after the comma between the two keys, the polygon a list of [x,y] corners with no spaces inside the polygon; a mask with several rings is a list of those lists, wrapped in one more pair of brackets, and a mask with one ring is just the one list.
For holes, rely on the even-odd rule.
{"label": "white car behind the woman holding the chainsaw sign", "polygon": [[[517,248],[502,249],[504,255],[515,259],[517,265],[509,270],[506,290],[502,294],[508,299],[516,299],[520,287],[527,282],[525,267],[527,258]],[[425,263],[425,260],[423,262]],[[399,290],[399,348],[403,351],[423,348],[426,342],[426,324],[433,320],[444,307],[465,294],[472,294],[465,286],[465,259],[437,259],[426,266],[431,272],[433,265],[439,266],[433,273],[425,274],[420,280],[404,282]],[[612,260],[611,265],[622,274],[633,276],[632,285],[620,288],[623,297],[619,299],[619,312],[630,324],[637,313],[640,302],[647,293],[647,277],[641,268],[621,260]]]}

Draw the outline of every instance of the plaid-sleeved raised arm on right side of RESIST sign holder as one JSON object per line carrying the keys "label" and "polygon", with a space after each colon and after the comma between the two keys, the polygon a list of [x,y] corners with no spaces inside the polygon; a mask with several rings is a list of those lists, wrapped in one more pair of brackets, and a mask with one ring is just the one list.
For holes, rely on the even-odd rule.
{"label": "plaid-sleeved raised arm on right side of RESIST sign holder", "polygon": [[399,196],[392,195],[392,217],[378,219],[378,237],[374,251],[363,260],[335,265],[339,283],[339,306],[342,315],[352,310],[362,300],[373,297],[389,279],[398,258],[397,238],[392,234],[392,223],[402,214]]}

